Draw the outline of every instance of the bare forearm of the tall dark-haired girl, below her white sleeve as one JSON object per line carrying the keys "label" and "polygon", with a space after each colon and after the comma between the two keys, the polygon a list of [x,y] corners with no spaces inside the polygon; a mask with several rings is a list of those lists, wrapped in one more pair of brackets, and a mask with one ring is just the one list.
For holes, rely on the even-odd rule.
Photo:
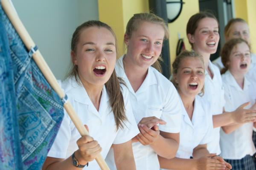
{"label": "bare forearm of the tall dark-haired girl, below her white sleeve", "polygon": [[229,125],[234,122],[232,117],[233,112],[224,112],[212,116],[213,128]]}

